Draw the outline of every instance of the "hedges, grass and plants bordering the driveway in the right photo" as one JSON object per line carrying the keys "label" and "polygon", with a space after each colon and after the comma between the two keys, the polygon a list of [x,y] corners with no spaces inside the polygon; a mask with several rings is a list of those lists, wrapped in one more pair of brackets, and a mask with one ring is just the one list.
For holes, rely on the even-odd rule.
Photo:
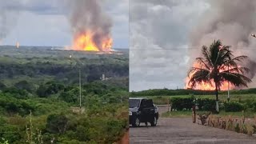
{"label": "hedges, grass and plants bordering the driveway in the right photo", "polygon": [[[197,105],[196,110],[197,123],[205,126],[213,126],[220,129],[232,130],[243,134],[256,134],[256,91],[255,89],[247,90],[230,90],[230,100],[227,100],[227,92],[220,91],[219,95],[219,112],[215,113],[214,92],[206,91],[201,93],[200,90],[145,90],[148,92],[158,91],[165,93],[171,91],[170,95],[154,96],[143,95],[152,98],[157,105],[170,105],[168,112],[161,114],[164,118],[191,118],[192,122],[192,106]],[[190,94],[185,94],[187,91]],[[198,94],[194,95],[193,94]],[[174,95],[182,92],[184,95]],[[136,92],[133,93],[135,97]]]}

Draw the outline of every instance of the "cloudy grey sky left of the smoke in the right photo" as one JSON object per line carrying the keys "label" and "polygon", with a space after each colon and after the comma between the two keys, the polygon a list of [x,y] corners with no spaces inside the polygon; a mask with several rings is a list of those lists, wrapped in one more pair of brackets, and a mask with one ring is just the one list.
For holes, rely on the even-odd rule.
{"label": "cloudy grey sky left of the smoke in the right photo", "polygon": [[188,34],[207,9],[200,0],[130,0],[130,91],[184,88]]}

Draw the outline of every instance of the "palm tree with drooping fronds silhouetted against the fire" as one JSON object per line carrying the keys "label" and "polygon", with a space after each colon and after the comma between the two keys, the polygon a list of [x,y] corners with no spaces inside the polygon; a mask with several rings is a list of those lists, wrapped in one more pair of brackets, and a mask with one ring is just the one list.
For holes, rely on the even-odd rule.
{"label": "palm tree with drooping fronds silhouetted against the fire", "polygon": [[191,67],[188,71],[190,77],[189,86],[194,88],[207,82],[214,86],[216,94],[216,111],[218,112],[218,90],[224,82],[230,82],[233,86],[246,86],[251,82],[244,74],[249,73],[249,69],[238,66],[247,56],[234,57],[230,46],[222,46],[220,40],[215,41],[208,48],[202,46],[202,58],[196,58],[198,66]]}

